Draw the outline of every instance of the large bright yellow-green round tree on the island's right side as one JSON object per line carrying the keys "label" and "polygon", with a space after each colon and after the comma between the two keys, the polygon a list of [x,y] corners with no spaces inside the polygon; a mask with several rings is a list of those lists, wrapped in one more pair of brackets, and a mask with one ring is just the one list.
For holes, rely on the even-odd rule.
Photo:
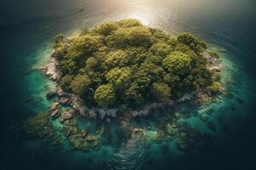
{"label": "large bright yellow-green round tree on the island's right side", "polygon": [[191,69],[189,55],[173,52],[163,60],[163,67],[170,73],[182,76]]}

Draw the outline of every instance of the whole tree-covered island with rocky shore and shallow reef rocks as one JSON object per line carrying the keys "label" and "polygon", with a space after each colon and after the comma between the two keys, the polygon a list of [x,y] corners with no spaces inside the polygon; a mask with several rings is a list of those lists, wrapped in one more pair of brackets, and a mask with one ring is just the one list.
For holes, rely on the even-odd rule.
{"label": "whole tree-covered island with rocky shore and shallow reef rocks", "polygon": [[[223,90],[219,64],[218,54],[207,50],[200,38],[190,33],[172,36],[139,20],[105,21],[84,28],[76,37],[59,34],[46,66],[47,76],[56,82],[55,92],[47,98],[55,102],[50,113],[30,118],[26,131],[61,144],[50,115],[61,122],[61,133],[74,148],[88,150],[98,148],[112,122],[123,127],[129,138],[150,129],[134,125],[133,119],[156,115],[166,117],[166,122],[156,122],[154,139],[170,139],[177,133],[179,148],[187,150],[189,138],[202,134],[184,129],[186,125],[180,125],[179,115],[173,113],[178,104],[203,105]],[[77,127],[81,119],[96,120],[97,130]]]}

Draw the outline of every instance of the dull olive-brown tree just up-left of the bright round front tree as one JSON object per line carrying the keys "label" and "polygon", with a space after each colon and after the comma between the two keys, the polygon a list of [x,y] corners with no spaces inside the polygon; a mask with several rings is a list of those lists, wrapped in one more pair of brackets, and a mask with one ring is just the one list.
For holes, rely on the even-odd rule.
{"label": "dull olive-brown tree just up-left of the bright round front tree", "polygon": [[83,96],[90,88],[90,78],[86,75],[78,75],[74,77],[73,81],[70,84],[74,94],[79,94]]}

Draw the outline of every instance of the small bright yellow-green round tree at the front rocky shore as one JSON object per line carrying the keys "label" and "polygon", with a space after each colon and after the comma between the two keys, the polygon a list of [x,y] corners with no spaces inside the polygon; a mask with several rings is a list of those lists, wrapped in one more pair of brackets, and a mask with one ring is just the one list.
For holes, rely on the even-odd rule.
{"label": "small bright yellow-green round tree at the front rocky shore", "polygon": [[111,84],[103,84],[98,87],[94,94],[94,100],[97,105],[102,107],[108,107],[108,105],[113,105],[116,99],[113,86]]}

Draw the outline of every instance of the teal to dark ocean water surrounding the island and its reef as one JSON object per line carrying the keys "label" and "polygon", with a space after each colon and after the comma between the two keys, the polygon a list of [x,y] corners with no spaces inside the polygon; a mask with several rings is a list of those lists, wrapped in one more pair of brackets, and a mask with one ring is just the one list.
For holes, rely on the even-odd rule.
{"label": "teal to dark ocean water surrounding the island and its reef", "polygon": [[[255,6],[253,0],[2,0],[0,169],[256,169]],[[60,151],[20,137],[19,123],[48,111],[45,93],[55,84],[38,68],[47,63],[55,34],[72,36],[84,26],[123,18],[172,34],[193,32],[218,50],[231,94],[198,111],[212,109],[212,122],[222,120],[210,153],[183,154],[172,142],[144,147],[136,137],[126,143],[115,137],[97,151]],[[209,130],[195,116],[188,122]]]}

